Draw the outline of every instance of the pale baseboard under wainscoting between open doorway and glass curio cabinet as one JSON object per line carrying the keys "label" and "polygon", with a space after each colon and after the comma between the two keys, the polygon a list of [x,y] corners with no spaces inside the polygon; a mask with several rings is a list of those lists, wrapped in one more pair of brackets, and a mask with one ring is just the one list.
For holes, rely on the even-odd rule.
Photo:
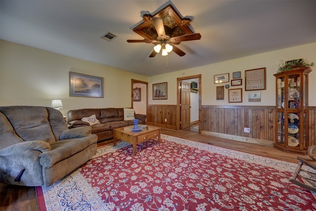
{"label": "pale baseboard under wainscoting between open doorway and glass curio cabinet", "polygon": [[242,142],[247,142],[247,143],[260,144],[260,145],[271,145],[271,146],[273,146],[273,144],[274,144],[273,141],[262,140],[262,139],[255,139],[255,138],[248,138],[248,137],[242,137],[242,136],[237,136],[237,135],[229,135],[229,134],[223,134],[223,133],[217,133],[217,132],[210,132],[210,131],[205,131],[205,130],[202,130],[201,134],[215,136],[215,137],[219,137],[219,138],[227,138],[227,139],[231,139],[231,140],[235,140],[235,141],[242,141]]}

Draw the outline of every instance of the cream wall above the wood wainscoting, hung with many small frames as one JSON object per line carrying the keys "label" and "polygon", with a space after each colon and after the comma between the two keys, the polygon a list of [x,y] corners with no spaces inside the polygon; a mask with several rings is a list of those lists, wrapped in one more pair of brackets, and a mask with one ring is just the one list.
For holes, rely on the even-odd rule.
{"label": "cream wall above the wood wainscoting, hung with many small frames", "polygon": [[[177,78],[202,75],[202,105],[255,105],[255,106],[274,106],[276,74],[279,60],[289,61],[293,59],[303,58],[307,63],[316,63],[316,42],[299,45],[290,48],[284,48],[266,53],[260,53],[252,56],[242,57],[229,61],[219,62],[211,65],[201,66],[194,69],[181,70],[168,74],[149,77],[148,87],[152,84],[168,83],[168,99],[167,100],[152,100],[152,93],[149,91],[149,104],[175,105],[177,104]],[[248,102],[248,93],[245,91],[244,71],[256,68],[266,67],[266,90],[258,90],[261,92],[261,102]],[[309,106],[316,106],[316,66],[312,67],[312,72],[309,74]],[[214,84],[214,75],[221,73],[229,73],[230,80],[233,78],[232,73],[241,71],[242,85],[233,86],[233,88],[242,88],[242,103],[228,103],[228,89],[225,88],[225,100],[216,100],[216,85]],[[230,84],[230,83],[223,83]],[[232,87],[230,87],[232,88]]]}

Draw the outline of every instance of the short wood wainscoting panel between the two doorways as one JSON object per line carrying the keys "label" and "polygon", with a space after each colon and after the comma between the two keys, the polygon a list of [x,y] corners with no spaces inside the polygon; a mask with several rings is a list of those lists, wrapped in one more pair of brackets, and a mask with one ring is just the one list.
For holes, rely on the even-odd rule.
{"label": "short wood wainscoting panel between the two doorways", "polygon": [[[177,105],[148,105],[147,109],[148,125],[177,129]],[[167,119],[167,122],[165,122],[165,119]]]}

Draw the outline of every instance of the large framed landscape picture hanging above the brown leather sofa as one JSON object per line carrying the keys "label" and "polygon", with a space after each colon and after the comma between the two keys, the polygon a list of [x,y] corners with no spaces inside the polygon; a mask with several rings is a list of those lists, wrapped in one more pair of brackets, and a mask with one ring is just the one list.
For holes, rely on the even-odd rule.
{"label": "large framed landscape picture hanging above the brown leather sofa", "polygon": [[69,96],[103,97],[103,78],[69,72]]}

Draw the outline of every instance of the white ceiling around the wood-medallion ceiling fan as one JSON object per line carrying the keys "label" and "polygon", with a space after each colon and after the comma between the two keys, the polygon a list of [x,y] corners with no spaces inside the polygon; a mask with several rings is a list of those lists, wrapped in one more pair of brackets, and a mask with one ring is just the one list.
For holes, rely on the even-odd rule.
{"label": "white ceiling around the wood-medallion ceiling fan", "polygon": [[[149,58],[153,44],[126,40],[143,39],[132,29],[168,4],[201,39],[177,45],[183,57]],[[0,38],[153,76],[316,42],[315,10],[316,0],[1,0]]]}

